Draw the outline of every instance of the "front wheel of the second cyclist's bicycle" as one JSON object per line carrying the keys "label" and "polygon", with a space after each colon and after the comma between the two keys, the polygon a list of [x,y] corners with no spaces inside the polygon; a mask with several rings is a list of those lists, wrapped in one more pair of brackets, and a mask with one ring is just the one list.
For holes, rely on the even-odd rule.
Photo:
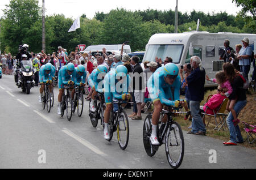
{"label": "front wheel of the second cyclist's bicycle", "polygon": [[117,123],[117,140],[119,147],[125,150],[129,141],[129,121],[127,114],[122,110]]}

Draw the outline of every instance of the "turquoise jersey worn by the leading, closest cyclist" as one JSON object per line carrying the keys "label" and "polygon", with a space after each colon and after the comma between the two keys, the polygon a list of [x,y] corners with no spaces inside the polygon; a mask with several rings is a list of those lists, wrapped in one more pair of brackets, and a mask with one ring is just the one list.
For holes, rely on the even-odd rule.
{"label": "turquoise jersey worn by the leading, closest cyclist", "polygon": [[[172,85],[164,80],[164,67],[158,68],[154,74],[148,79],[147,88],[150,97],[155,101],[159,101],[167,106],[174,106],[176,100],[180,98],[180,76],[174,80]],[[174,96],[171,89],[174,88]]]}

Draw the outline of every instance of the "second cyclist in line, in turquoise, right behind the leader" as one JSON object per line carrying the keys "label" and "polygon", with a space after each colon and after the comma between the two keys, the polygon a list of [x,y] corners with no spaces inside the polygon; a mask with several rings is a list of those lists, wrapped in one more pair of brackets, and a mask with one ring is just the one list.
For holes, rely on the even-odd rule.
{"label": "second cyclist in line, in turquoise, right behind the leader", "polygon": [[109,140],[108,123],[110,118],[110,111],[113,108],[113,98],[118,100],[129,100],[129,84],[130,76],[125,66],[119,65],[114,70],[106,74],[104,79],[104,96],[106,102],[106,109],[104,113],[104,139]]}

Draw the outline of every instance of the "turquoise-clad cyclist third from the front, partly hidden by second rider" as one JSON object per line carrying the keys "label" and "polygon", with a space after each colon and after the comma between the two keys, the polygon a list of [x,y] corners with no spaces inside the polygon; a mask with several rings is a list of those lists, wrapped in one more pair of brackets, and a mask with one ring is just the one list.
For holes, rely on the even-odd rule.
{"label": "turquoise-clad cyclist third from the front, partly hidden by second rider", "polygon": [[96,108],[94,107],[95,96],[97,95],[97,92],[100,92],[100,93],[103,92],[104,87],[102,87],[102,85],[104,84],[102,79],[104,79],[104,76],[106,75],[107,72],[108,72],[108,68],[106,68],[106,66],[104,65],[100,65],[95,70],[92,71],[92,74],[90,74],[88,78],[88,84],[90,85],[93,91],[92,100],[90,101],[90,105],[89,105],[90,111],[93,113],[96,111]]}

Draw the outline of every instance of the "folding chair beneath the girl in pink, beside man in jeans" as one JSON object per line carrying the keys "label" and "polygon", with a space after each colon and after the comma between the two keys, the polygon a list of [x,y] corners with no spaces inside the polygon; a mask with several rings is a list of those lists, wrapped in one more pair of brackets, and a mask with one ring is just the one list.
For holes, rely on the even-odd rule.
{"label": "folding chair beneath the girl in pink, beside man in jeans", "polygon": [[[208,97],[207,101],[209,100],[210,97],[211,96]],[[225,117],[228,116],[228,114],[225,114],[225,110],[226,110],[226,105],[228,104],[228,101],[229,101],[229,99],[225,98],[222,101],[222,104],[220,105],[220,107],[218,109],[212,109],[213,114],[201,113],[201,114],[204,114],[203,118],[205,117],[205,115],[208,115],[209,117],[214,117],[215,124],[216,124],[216,126],[214,127],[214,130],[220,131],[221,128],[223,130],[225,130],[225,127],[226,127],[226,119],[225,119]],[[207,106],[207,109],[210,109],[210,108]],[[205,112],[207,112],[207,109],[205,109]],[[217,123],[217,118],[219,118],[219,120],[220,120],[219,123]],[[207,127],[208,127],[209,123],[210,123],[210,120],[209,120],[209,122],[207,124]]]}

